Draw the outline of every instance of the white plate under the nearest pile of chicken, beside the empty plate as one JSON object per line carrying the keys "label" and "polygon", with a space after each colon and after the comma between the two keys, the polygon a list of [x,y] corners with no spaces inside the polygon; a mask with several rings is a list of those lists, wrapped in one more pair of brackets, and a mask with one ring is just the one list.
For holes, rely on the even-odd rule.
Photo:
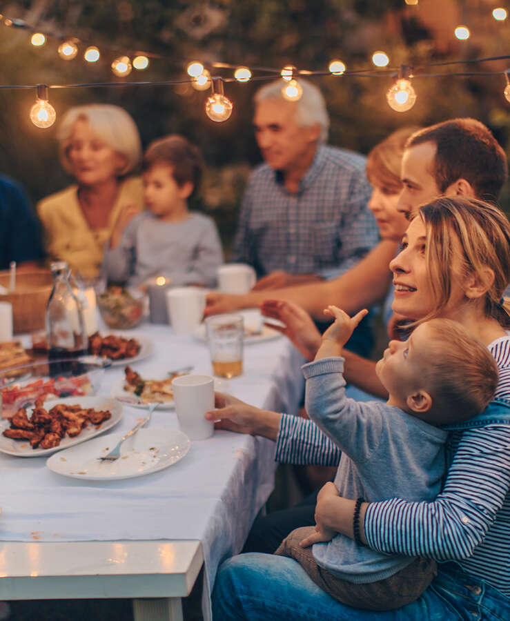
{"label": "white plate under the nearest pile of chicken, beside the empty plate", "polygon": [[[92,425],[91,423],[84,428],[81,433],[75,437],[64,436],[60,441],[59,446],[55,446],[53,449],[32,449],[28,440],[12,440],[10,437],[0,435],[0,452],[7,453],[8,455],[15,455],[16,457],[41,457],[41,455],[51,455],[56,451],[62,449],[68,449],[69,446],[75,444],[81,444],[90,440],[91,437],[103,433],[107,429],[116,425],[122,417],[122,405],[108,397],[64,397],[63,399],[48,399],[44,402],[44,408],[50,410],[57,403],[64,403],[67,405],[80,405],[83,408],[94,408],[95,410],[110,410],[112,413],[108,420],[102,422],[99,427]],[[30,408],[28,409],[28,417],[30,418]],[[0,422],[0,434],[1,432],[10,427],[8,420],[2,420]]]}

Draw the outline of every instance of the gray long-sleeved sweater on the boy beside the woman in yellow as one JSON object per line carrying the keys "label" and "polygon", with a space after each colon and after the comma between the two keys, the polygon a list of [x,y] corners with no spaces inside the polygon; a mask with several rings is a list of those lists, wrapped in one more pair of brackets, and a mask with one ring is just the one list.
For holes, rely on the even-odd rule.
{"label": "gray long-sleeved sweater on the boy beside the woman in yellow", "polygon": [[222,243],[212,218],[190,213],[181,222],[166,222],[143,211],[126,226],[117,248],[105,248],[101,273],[128,286],[161,275],[172,286],[212,287],[222,262]]}

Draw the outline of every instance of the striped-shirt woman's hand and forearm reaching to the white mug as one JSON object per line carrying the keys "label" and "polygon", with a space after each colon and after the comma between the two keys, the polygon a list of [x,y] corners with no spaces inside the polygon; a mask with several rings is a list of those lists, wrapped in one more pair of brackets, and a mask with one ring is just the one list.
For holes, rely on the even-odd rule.
{"label": "striped-shirt woman's hand and forearm reaching to the white mug", "polygon": [[263,435],[276,440],[279,420],[282,416],[270,410],[260,410],[224,393],[215,393],[217,409],[206,412],[206,419],[215,422],[215,428],[237,433]]}

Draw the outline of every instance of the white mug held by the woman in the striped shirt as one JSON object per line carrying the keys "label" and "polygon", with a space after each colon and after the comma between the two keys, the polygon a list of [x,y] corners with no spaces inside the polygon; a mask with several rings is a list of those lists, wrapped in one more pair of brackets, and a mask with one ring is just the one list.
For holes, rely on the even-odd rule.
{"label": "white mug held by the woman in the striped shirt", "polygon": [[210,375],[181,375],[172,380],[175,412],[179,428],[190,440],[206,440],[213,435],[214,423],[206,412],[214,409],[214,380]]}

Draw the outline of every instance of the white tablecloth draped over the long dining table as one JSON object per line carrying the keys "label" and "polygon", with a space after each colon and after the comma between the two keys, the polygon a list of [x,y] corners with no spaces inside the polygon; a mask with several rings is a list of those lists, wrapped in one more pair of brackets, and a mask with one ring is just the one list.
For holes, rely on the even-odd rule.
{"label": "white tablecloth draped over the long dining table", "polygon": [[[142,377],[185,364],[195,366],[193,373],[211,373],[206,344],[176,337],[169,326],[148,324],[139,333],[155,345],[150,358],[133,365]],[[300,362],[282,337],[248,345],[244,375],[222,382],[224,390],[255,406],[295,413],[303,389]],[[106,370],[99,395],[110,395],[123,369]],[[110,433],[128,430],[141,415],[124,406],[123,419]],[[177,426],[175,413],[156,410],[150,427],[167,426]],[[273,458],[273,442],[215,431],[210,439],[193,442],[188,455],[164,471],[88,482],[52,473],[44,457],[0,454],[0,540],[200,540],[208,595],[217,566],[240,551],[273,489]],[[207,618],[208,604],[204,613]]]}

